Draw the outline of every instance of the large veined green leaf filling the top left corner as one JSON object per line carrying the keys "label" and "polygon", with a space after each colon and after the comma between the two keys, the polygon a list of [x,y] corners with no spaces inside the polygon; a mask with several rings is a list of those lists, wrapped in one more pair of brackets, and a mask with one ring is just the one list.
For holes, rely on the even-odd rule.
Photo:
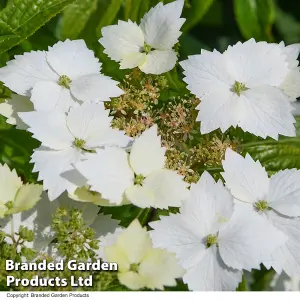
{"label": "large veined green leaf filling the top left corner", "polygon": [[74,0],[13,0],[0,12],[0,54],[21,43]]}

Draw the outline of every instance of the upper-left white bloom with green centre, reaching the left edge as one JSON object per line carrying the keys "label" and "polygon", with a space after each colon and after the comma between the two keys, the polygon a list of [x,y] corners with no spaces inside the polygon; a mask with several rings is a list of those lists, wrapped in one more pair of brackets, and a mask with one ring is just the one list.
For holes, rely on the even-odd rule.
{"label": "upper-left white bloom with green centre, reaching the left edge", "polygon": [[58,42],[48,51],[16,55],[0,69],[0,80],[31,97],[36,110],[68,111],[82,102],[109,101],[123,91],[100,74],[101,63],[83,40]]}

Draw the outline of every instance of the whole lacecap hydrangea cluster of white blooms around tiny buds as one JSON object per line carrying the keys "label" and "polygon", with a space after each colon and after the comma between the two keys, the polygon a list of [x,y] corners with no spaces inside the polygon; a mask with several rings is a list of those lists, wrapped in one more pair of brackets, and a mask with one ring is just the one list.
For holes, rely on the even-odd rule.
{"label": "whole lacecap hydrangea cluster of white blooms around tiny buds", "polygon": [[[261,264],[299,276],[300,171],[269,178],[228,130],[296,135],[300,46],[251,39],[224,53],[202,50],[180,63],[191,93],[161,103],[183,5],[159,3],[139,25],[102,29],[104,53],[133,69],[120,85],[83,40],[17,55],[0,69],[14,92],[0,113],[40,142],[31,162],[42,185],[0,165],[2,242],[23,259],[52,247],[64,259],[101,257],[118,263],[116,278],[132,290],[163,290],[178,278],[189,290],[235,290]],[[209,167],[223,169],[217,181]],[[168,212],[147,219],[147,231],[98,207],[125,205]]]}

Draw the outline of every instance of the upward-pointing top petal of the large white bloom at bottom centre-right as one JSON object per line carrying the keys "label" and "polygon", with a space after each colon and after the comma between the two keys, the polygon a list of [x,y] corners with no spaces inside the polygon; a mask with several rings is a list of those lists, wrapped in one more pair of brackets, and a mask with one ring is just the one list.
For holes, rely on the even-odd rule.
{"label": "upward-pointing top petal of the large white bloom at bottom centre-right", "polygon": [[183,202],[180,213],[198,232],[199,237],[215,234],[231,218],[233,198],[221,181],[215,182],[208,172],[191,185],[190,197]]}

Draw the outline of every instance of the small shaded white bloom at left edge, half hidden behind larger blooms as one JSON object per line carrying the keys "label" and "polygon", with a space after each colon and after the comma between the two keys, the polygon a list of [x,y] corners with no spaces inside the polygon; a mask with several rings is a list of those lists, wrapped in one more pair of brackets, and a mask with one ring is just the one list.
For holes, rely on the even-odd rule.
{"label": "small shaded white bloom at left edge, half hidden behind larger blooms", "polygon": [[27,129],[28,126],[18,116],[19,112],[33,111],[33,104],[28,97],[11,95],[11,99],[6,99],[0,103],[0,115],[7,118],[6,122],[16,125],[17,129]]}

